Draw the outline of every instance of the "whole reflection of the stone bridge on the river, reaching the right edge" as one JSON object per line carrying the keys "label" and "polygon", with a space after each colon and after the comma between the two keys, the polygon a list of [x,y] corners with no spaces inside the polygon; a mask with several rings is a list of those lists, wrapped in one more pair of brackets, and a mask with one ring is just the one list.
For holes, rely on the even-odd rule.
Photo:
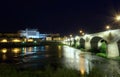
{"label": "whole reflection of the stone bridge on the river, reaching the right edge", "polygon": [[63,47],[63,64],[80,71],[82,77],[120,77],[120,62],[98,57],[88,52]]}

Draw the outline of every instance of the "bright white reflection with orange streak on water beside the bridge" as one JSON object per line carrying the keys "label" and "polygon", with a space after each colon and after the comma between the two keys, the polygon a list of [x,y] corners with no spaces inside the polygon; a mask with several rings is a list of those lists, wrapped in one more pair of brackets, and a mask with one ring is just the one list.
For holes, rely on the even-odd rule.
{"label": "bright white reflection with orange streak on water beside the bridge", "polygon": [[67,46],[63,47],[63,51],[63,63],[66,67],[76,69],[80,71],[80,74],[82,75],[85,73],[89,74],[89,67],[92,67],[92,64],[90,61],[88,61],[89,56],[86,53],[85,55],[80,50]]}

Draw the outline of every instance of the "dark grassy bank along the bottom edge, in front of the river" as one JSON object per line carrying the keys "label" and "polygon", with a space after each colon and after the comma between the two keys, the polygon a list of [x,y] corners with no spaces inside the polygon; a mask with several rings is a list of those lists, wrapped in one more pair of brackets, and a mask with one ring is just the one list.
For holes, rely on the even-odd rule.
{"label": "dark grassy bank along the bottom edge, in front of the river", "polygon": [[[65,67],[59,67],[53,69],[51,66],[46,66],[44,70],[34,70],[25,69],[19,70],[16,65],[12,64],[0,64],[0,77],[104,77],[104,73],[100,73],[99,70],[92,69],[92,71],[87,74],[86,72],[82,74],[81,72],[68,69]],[[96,74],[94,74],[96,73]]]}

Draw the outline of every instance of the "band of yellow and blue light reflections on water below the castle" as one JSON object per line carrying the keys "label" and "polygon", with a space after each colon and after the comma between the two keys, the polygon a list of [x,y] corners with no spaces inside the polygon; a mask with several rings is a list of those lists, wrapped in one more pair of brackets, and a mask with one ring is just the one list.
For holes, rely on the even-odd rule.
{"label": "band of yellow and blue light reflections on water below the castle", "polygon": [[[46,46],[47,49],[49,48],[49,46]],[[40,58],[43,57],[42,54],[39,55],[39,53],[41,53],[41,51],[46,51],[46,47],[45,46],[34,46],[34,47],[21,47],[21,48],[1,48],[0,49],[0,55],[1,55],[1,62],[2,61],[8,61],[8,60],[14,60],[17,57],[22,57],[21,59],[25,62],[30,61],[34,58]],[[27,55],[27,56],[26,56]],[[42,56],[41,56],[42,55]],[[48,55],[45,55],[46,57],[48,57]],[[19,60],[19,58],[18,58]]]}

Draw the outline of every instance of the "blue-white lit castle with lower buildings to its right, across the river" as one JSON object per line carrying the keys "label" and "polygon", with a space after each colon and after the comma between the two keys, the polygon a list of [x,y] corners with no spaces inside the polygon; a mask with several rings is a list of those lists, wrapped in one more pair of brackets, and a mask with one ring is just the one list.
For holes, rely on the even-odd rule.
{"label": "blue-white lit castle with lower buildings to its right, across the river", "polygon": [[42,40],[60,40],[59,34],[40,34],[40,32],[37,29],[25,29],[19,31],[20,37],[25,37],[27,39],[29,38],[40,38]]}

